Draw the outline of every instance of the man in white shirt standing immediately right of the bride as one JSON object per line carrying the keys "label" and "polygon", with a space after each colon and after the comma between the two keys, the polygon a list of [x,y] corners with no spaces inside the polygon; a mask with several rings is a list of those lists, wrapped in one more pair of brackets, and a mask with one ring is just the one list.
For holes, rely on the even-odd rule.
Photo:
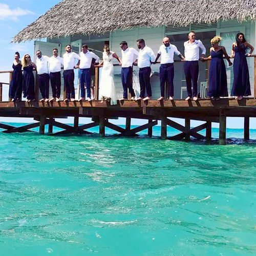
{"label": "man in white shirt standing immediately right of the bride", "polygon": [[120,48],[122,49],[122,69],[121,69],[121,78],[123,85],[123,98],[124,100],[128,98],[128,90],[131,93],[132,100],[135,99],[135,93],[133,90],[133,62],[134,59],[138,58],[139,53],[132,47],[128,47],[126,41],[120,42]]}

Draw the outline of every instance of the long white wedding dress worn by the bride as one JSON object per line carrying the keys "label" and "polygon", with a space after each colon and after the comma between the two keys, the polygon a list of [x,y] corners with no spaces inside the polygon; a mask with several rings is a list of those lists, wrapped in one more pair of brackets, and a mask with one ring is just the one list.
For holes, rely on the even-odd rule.
{"label": "long white wedding dress worn by the bride", "polygon": [[103,52],[103,68],[100,77],[100,96],[110,98],[110,104],[117,104],[116,89],[114,84],[113,54]]}

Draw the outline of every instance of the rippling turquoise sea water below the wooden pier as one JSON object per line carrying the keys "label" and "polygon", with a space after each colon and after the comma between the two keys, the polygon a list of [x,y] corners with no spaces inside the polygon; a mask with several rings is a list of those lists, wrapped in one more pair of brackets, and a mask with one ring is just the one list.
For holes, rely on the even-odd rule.
{"label": "rippling turquoise sea water below the wooden pier", "polygon": [[255,141],[0,139],[1,256],[256,254]]}

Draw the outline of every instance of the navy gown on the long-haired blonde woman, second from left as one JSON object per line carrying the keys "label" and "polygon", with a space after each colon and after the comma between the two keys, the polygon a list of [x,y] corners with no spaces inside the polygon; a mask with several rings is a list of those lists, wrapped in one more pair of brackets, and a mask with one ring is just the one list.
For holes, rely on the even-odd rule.
{"label": "navy gown on the long-haired blonde woman, second from left", "polygon": [[23,94],[30,100],[35,99],[35,78],[33,74],[33,66],[29,65],[23,68]]}

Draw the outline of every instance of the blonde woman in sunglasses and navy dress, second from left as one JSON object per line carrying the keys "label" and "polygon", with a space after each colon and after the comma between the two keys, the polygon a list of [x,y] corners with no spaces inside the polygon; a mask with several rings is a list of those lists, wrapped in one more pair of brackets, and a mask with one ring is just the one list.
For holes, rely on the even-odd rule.
{"label": "blonde woman in sunglasses and navy dress, second from left", "polygon": [[23,94],[26,101],[35,100],[35,78],[33,69],[36,69],[36,65],[31,61],[29,54],[25,54],[22,58],[23,66]]}

